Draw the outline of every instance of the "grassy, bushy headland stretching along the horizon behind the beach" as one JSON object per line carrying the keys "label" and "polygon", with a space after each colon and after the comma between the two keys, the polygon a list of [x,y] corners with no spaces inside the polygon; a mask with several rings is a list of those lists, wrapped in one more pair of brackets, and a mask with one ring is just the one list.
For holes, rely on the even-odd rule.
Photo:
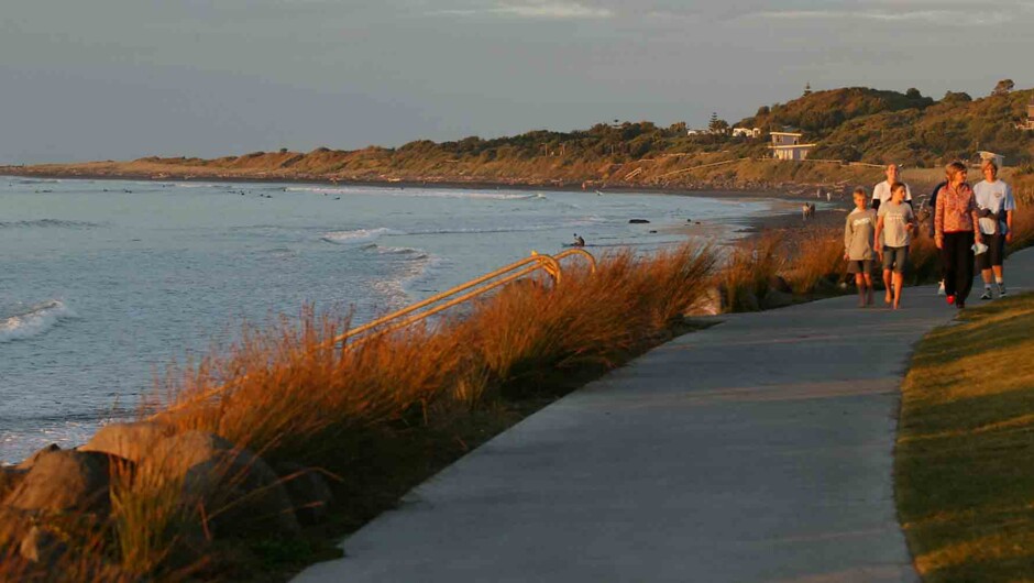
{"label": "grassy, bushy headland stretching along the horizon behind the beach", "polygon": [[[878,182],[879,168],[861,164],[897,162],[931,168],[990,150],[1005,155],[1007,164],[1018,168],[1003,177],[1034,189],[1034,132],[1015,128],[1032,98],[1034,89],[976,100],[949,92],[936,101],[914,89],[900,94],[851,87],[763,106],[736,124],[766,133],[788,125],[801,129],[804,139],[818,146],[812,161],[793,164],[770,160],[767,138],[734,138],[723,129],[724,122],[714,133],[688,135],[685,123],[660,128],[641,121],[492,140],[420,140],[356,151],[283,148],[215,160],[152,156],[9,166],[0,167],[0,174],[675,190],[845,188]],[[926,179],[932,186],[939,175],[924,176],[920,185],[926,186]]]}

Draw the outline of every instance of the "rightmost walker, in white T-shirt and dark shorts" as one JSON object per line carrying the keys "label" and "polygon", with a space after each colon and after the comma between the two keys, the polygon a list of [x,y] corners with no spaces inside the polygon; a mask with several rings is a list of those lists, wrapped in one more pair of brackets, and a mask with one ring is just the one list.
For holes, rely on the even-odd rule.
{"label": "rightmost walker, in white T-shirt and dark shorts", "polygon": [[1012,188],[998,178],[998,164],[993,160],[983,162],[983,180],[974,186],[974,198],[978,224],[988,251],[977,255],[977,266],[983,276],[983,295],[980,299],[991,299],[991,275],[998,284],[998,297],[1005,295],[1005,274],[1002,264],[1005,258],[1005,243],[1012,241],[1012,211],[1016,201],[1012,198]]}

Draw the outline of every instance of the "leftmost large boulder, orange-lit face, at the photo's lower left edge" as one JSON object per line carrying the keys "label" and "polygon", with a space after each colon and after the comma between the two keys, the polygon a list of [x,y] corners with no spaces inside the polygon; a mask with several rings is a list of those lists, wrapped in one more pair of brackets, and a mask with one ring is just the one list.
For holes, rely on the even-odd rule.
{"label": "leftmost large boulder, orange-lit face, at the photo's lower left edge", "polygon": [[4,505],[33,512],[107,513],[111,463],[106,453],[52,451],[36,460]]}

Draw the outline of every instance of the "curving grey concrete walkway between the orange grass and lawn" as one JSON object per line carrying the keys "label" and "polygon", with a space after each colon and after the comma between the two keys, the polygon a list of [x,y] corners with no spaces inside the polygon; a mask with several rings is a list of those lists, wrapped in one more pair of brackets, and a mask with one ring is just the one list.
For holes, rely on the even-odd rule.
{"label": "curving grey concrete walkway between the orange grass and lawn", "polygon": [[[1034,250],[1007,270],[1011,293],[1034,288]],[[898,389],[956,310],[933,287],[903,307],[723,317],[475,450],[297,581],[915,581]]]}

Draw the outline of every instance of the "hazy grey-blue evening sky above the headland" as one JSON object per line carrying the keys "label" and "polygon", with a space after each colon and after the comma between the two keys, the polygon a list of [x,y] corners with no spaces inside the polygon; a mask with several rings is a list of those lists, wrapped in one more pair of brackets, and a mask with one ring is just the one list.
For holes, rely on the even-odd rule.
{"label": "hazy grey-blue evening sky above the headland", "polygon": [[3,0],[0,164],[732,123],[1034,86],[1034,0]]}

